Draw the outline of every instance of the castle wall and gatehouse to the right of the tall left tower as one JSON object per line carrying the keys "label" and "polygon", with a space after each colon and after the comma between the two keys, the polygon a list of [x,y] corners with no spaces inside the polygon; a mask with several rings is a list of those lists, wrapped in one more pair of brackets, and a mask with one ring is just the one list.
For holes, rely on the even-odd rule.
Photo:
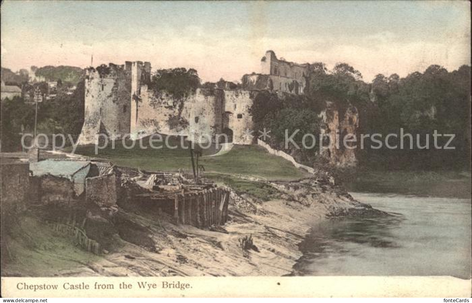
{"label": "castle wall and gatehouse to the right of the tall left tower", "polygon": [[229,128],[234,132],[234,143],[252,143],[245,133],[253,125],[249,91],[197,89],[181,98],[154,92],[147,86],[141,86],[140,92],[137,113],[132,113],[135,128],[131,129],[138,137],[154,133],[193,135],[200,142],[208,142]]}

